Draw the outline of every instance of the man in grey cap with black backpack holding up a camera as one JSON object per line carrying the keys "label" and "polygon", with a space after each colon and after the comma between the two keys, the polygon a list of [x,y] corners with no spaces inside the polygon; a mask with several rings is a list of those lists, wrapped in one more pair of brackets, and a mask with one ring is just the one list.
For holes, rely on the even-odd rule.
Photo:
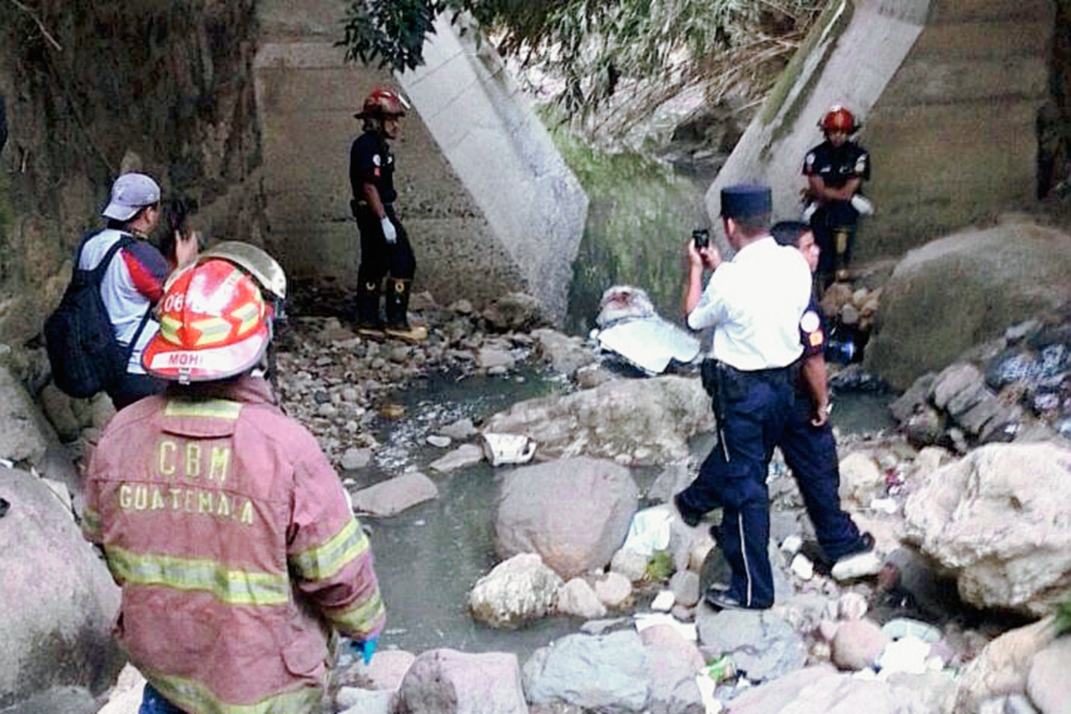
{"label": "man in grey cap with black backpack holding up a camera", "polygon": [[198,243],[193,233],[175,236],[169,262],[148,241],[161,212],[160,185],[145,173],[124,173],[103,211],[106,227],[78,247],[67,293],[45,324],[54,379],[71,396],[104,390],[122,409],[166,386],[146,373],[141,350],[160,329],[152,308],[171,267],[192,261]]}

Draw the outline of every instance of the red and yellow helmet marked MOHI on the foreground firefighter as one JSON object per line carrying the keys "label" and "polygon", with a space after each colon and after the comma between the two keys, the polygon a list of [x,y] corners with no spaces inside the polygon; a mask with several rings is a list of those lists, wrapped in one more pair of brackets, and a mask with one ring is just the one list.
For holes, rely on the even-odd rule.
{"label": "red and yellow helmet marked MOHI on the foreground firefighter", "polygon": [[239,375],[271,341],[271,314],[256,282],[235,263],[211,259],[168,280],[160,332],[141,354],[146,370],[182,383]]}

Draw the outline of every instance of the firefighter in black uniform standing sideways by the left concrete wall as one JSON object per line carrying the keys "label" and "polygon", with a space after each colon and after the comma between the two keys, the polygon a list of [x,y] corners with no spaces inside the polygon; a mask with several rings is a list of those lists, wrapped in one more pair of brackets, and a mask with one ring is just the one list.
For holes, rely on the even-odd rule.
{"label": "firefighter in black uniform standing sideways by the left concrete wall", "polygon": [[[397,139],[407,104],[392,89],[377,87],[353,115],[364,122],[364,131],[349,150],[349,182],[353,191],[351,209],[361,233],[361,264],[357,271],[357,321],[360,328],[378,330],[403,338],[420,338],[408,321],[409,293],[417,272],[409,237],[394,208],[394,154],[391,140]],[[379,293],[386,285],[386,315],[379,319]],[[426,334],[426,332],[422,332]]]}

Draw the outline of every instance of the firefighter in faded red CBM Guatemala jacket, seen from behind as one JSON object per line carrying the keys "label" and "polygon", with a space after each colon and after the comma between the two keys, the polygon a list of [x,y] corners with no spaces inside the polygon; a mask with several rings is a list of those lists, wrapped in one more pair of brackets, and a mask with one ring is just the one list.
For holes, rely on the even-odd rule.
{"label": "firefighter in faded red CBM Guatemala jacket, seen from behind", "polygon": [[142,363],[171,384],[112,419],[87,473],[142,714],[312,712],[335,635],[371,656],[386,618],[334,469],[259,376],[272,307],[240,264],[169,280]]}

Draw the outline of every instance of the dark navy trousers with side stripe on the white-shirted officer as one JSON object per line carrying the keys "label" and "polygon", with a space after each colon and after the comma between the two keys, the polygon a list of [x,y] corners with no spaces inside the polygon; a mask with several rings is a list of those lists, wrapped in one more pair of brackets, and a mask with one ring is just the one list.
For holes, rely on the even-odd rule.
{"label": "dark navy trousers with side stripe on the white-shirted officer", "polygon": [[721,431],[729,458],[716,445],[677,500],[682,511],[692,513],[722,507],[720,545],[733,571],[726,594],[745,607],[765,608],[773,604],[766,477],[791,409],[797,373],[787,367],[756,373],[725,369]]}

